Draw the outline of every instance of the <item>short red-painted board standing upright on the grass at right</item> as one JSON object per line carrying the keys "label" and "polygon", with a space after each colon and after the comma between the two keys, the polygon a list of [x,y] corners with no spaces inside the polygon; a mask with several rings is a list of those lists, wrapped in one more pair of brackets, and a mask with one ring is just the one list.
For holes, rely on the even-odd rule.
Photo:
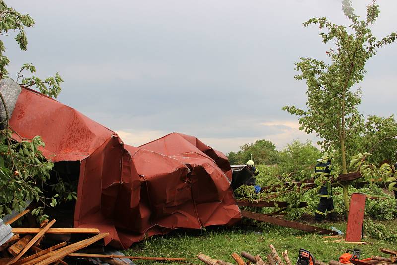
{"label": "short red-painted board standing upright on the grass at right", "polygon": [[365,194],[353,193],[347,219],[346,241],[361,241],[364,221]]}

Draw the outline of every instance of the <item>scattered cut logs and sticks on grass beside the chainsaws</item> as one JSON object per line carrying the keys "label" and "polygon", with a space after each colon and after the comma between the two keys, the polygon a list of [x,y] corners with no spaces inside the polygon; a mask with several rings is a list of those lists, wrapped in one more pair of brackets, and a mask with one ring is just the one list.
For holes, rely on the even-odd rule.
{"label": "scattered cut logs and sticks on grass beside the chainsaws", "polygon": [[[269,244],[270,252],[263,257],[260,255],[251,255],[247,252],[241,252],[240,255],[237,253],[233,253],[231,256],[235,260],[235,263],[226,262],[223,260],[218,260],[211,258],[203,253],[199,253],[196,257],[205,264],[208,265],[292,265],[295,262],[291,262],[291,259],[288,255],[288,250],[282,252],[282,257],[278,255],[277,250],[274,248],[272,244]],[[380,249],[381,252],[389,254],[390,258],[379,257],[379,256],[371,256],[370,259],[366,259],[365,262],[361,261],[352,261],[348,265],[396,265],[397,263],[397,251],[389,250],[389,249]],[[245,260],[243,259],[245,258]],[[340,263],[338,261],[331,260],[328,263],[319,261],[315,258],[316,265],[346,265]],[[298,265],[298,263],[296,263]]]}

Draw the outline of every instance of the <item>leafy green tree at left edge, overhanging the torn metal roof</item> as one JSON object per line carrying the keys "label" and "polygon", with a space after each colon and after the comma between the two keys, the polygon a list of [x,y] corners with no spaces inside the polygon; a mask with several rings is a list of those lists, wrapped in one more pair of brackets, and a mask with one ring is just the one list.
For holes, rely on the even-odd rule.
{"label": "leafy green tree at left edge, overhanging the torn metal roof", "polygon": [[[0,0],[0,34],[8,36],[10,32],[16,31],[15,40],[21,50],[26,50],[28,44],[24,28],[33,25],[34,21],[29,15],[20,14]],[[8,77],[6,67],[10,61],[4,52],[4,43],[0,40],[0,80]],[[35,86],[50,97],[56,97],[60,93],[60,83],[63,80],[58,73],[42,81],[36,76],[25,77],[23,71],[34,73],[36,69],[32,64],[22,66],[17,77],[17,81],[22,78],[22,85]],[[26,139],[12,130],[8,124],[10,117],[6,102],[1,93],[0,98],[0,104],[3,104],[6,113],[5,120],[1,121],[3,129],[0,130],[0,217],[10,213],[12,209],[21,210],[26,206],[26,200],[35,199],[40,206],[32,210],[32,214],[38,216],[39,220],[46,218],[48,216],[43,215],[43,207],[48,202],[55,206],[61,200],[75,199],[76,193],[68,191],[63,198],[58,194],[52,198],[44,197],[43,186],[50,178],[54,164],[42,155],[40,148],[44,146],[44,142],[40,136]],[[20,141],[13,140],[13,134],[17,135]],[[61,194],[65,191],[58,189],[57,192]]]}

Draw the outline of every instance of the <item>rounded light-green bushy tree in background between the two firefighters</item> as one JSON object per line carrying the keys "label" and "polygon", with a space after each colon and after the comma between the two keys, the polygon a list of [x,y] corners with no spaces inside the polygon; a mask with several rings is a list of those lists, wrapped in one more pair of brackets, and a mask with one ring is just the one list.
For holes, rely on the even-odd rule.
{"label": "rounded light-green bushy tree in background between the two firefighters", "polygon": [[319,149],[313,146],[311,141],[302,143],[294,140],[279,152],[279,174],[298,173],[299,180],[309,179],[313,173],[313,165],[316,159],[321,157]]}

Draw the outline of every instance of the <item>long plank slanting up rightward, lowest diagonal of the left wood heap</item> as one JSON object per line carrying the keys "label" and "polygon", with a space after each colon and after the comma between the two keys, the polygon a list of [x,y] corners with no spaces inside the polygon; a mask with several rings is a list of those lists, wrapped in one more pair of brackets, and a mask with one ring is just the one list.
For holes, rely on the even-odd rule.
{"label": "long plank slanting up rightward, lowest diagonal of the left wood heap", "polygon": [[84,240],[81,240],[74,244],[71,244],[69,246],[63,247],[61,249],[50,251],[47,254],[44,254],[44,255],[39,256],[31,261],[24,263],[24,265],[33,265],[33,264],[48,265],[50,263],[56,262],[60,259],[63,259],[65,256],[69,255],[70,253],[73,253],[74,251],[85,248],[85,247],[97,242],[98,240],[101,240],[102,238],[104,238],[108,235],[109,235],[109,233],[99,234],[94,237],[84,239]]}

